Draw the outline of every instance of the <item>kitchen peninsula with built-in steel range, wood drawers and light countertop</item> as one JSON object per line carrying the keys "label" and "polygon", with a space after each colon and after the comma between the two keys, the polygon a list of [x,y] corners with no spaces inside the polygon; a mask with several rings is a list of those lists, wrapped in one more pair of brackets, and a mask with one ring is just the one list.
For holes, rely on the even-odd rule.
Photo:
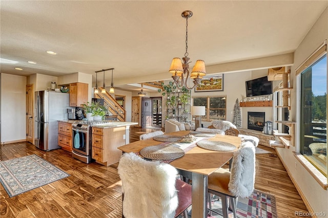
{"label": "kitchen peninsula with built-in steel range, wood drawers and light countertop", "polygon": [[[130,125],[137,124],[120,121],[58,121],[58,124],[65,123],[72,125],[72,156],[85,163],[90,163],[93,159],[105,166],[119,161],[122,151],[117,147],[130,143]],[[79,135],[78,143],[76,135]]]}

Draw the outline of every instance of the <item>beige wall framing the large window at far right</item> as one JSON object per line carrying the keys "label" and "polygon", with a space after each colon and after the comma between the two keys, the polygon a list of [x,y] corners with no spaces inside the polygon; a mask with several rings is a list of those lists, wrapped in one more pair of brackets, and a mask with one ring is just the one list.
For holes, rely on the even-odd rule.
{"label": "beige wall framing the large window at far right", "polygon": [[[295,70],[300,64],[306,60],[323,41],[328,38],[328,8],[324,10],[320,18],[311,28],[309,33],[305,36],[299,47],[294,54],[294,65],[291,66],[291,83],[294,89],[291,91],[291,120],[297,121],[295,127],[296,130],[300,128],[300,122],[296,116],[296,108],[299,107],[299,102],[296,101],[296,76]],[[302,195],[306,198],[306,201],[310,204],[314,212],[325,212],[328,215],[328,191],[324,190],[317,181],[310,175],[310,173],[299,163],[294,157],[293,152],[299,151],[298,138],[296,137],[296,147],[277,148],[277,152],[282,158],[285,166],[290,171],[292,178],[297,183],[302,192]]]}

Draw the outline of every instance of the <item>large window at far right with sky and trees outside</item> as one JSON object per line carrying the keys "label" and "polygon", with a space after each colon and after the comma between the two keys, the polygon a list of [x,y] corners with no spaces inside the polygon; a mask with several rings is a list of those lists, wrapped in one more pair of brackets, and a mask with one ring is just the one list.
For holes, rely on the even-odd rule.
{"label": "large window at far right with sky and trees outside", "polygon": [[327,56],[301,72],[300,152],[327,176]]}

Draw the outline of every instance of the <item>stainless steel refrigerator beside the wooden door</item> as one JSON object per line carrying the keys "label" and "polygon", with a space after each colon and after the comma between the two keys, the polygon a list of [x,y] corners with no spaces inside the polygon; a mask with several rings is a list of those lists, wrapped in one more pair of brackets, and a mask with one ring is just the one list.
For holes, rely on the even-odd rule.
{"label": "stainless steel refrigerator beside the wooden door", "polygon": [[34,107],[34,144],[42,150],[58,146],[58,120],[67,120],[69,94],[54,91],[36,91]]}

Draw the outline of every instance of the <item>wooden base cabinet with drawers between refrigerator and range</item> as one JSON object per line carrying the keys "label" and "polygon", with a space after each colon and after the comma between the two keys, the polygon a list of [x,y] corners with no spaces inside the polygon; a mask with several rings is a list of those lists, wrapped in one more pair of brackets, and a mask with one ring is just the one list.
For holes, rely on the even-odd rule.
{"label": "wooden base cabinet with drawers between refrigerator and range", "polygon": [[72,123],[58,122],[58,145],[72,151]]}

